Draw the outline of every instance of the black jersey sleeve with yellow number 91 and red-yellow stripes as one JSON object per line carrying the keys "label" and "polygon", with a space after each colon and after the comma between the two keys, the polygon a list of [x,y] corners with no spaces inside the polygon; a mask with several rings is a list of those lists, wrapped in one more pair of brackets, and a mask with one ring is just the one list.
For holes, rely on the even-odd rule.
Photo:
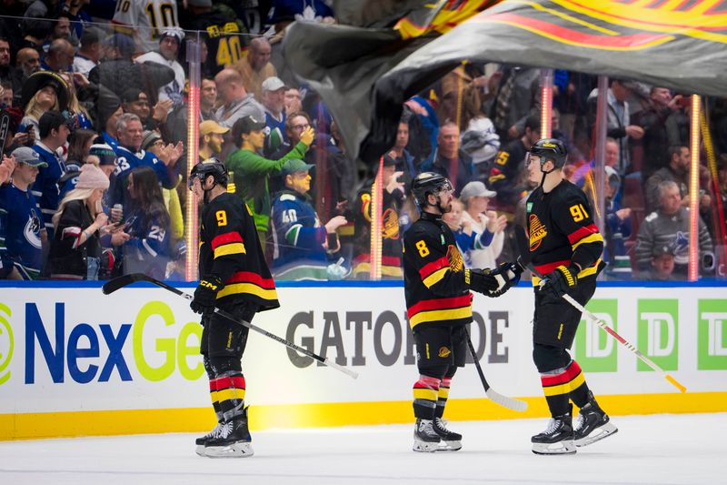
{"label": "black jersey sleeve with yellow number 91 and red-yellow stripes", "polygon": [[585,194],[573,187],[554,207],[553,220],[571,243],[571,261],[581,269],[593,266],[603,253],[603,236],[593,223],[593,210]]}

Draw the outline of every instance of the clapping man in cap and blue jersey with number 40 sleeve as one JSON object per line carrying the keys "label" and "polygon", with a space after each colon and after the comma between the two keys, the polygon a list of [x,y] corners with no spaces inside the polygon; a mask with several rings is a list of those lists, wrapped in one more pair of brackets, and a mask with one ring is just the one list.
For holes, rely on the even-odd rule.
{"label": "clapping man in cap and blue jersey with number 40 sleeve", "polygon": [[[324,226],[321,224],[308,196],[308,171],[313,167],[292,158],[281,169],[285,187],[275,197],[271,215],[275,278],[327,280],[328,254],[340,249],[335,230],[347,221],[343,216],[335,216]],[[335,248],[328,244],[329,235],[332,243],[335,240]]]}

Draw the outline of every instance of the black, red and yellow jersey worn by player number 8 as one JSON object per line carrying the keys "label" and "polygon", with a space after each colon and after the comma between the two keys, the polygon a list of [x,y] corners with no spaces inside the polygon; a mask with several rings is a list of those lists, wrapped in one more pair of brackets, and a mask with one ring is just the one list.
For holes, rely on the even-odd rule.
{"label": "black, red and yellow jersey worn by player number 8", "polygon": [[472,298],[462,254],[441,216],[426,212],[403,237],[403,288],[413,330],[427,324],[472,321]]}

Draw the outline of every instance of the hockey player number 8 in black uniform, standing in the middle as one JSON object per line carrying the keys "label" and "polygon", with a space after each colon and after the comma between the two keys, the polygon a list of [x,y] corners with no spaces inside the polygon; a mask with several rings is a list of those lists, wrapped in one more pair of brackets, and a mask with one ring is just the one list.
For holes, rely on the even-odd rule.
{"label": "hockey player number 8 in black uniform, standing in the middle", "polygon": [[454,372],[464,366],[470,290],[499,296],[517,283],[520,271],[513,263],[493,271],[464,268],[454,235],[442,220],[452,210],[447,178],[424,172],[413,179],[412,192],[422,214],[403,237],[404,294],[420,374],[413,385],[413,450],[460,450],[462,435],[446,429],[442,418]]}

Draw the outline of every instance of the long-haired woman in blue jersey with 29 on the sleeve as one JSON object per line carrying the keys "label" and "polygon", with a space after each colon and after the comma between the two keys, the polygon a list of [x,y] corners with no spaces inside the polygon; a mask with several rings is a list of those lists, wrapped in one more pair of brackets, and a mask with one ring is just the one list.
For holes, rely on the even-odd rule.
{"label": "long-haired woman in blue jersey with 29 on the sleeve", "polygon": [[171,254],[171,223],[162,189],[152,167],[134,168],[128,184],[130,203],[124,227],[130,238],[124,244],[124,274],[164,279]]}

